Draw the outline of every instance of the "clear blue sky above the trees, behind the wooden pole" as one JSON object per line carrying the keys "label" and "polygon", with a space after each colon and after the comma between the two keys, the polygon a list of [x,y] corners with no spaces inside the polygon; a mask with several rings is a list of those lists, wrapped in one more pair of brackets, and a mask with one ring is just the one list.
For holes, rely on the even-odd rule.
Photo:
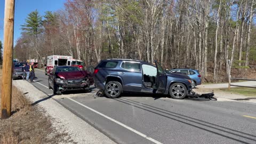
{"label": "clear blue sky above the trees, behind the wooden pole", "polygon": [[[27,15],[34,10],[44,15],[45,11],[57,11],[64,7],[67,0],[15,0],[14,14],[14,43],[19,38],[21,30]],[[0,40],[3,42],[4,35],[4,0],[0,0]]]}

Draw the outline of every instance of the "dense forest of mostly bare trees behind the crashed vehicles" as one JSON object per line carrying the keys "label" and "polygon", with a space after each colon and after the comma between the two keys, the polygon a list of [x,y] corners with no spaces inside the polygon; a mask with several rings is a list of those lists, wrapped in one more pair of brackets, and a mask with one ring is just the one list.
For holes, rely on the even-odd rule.
{"label": "dense forest of mostly bare trees behind the crashed vehicles", "polygon": [[[102,59],[159,61],[195,68],[202,80],[223,81],[231,68],[256,60],[254,0],[68,0],[63,10],[31,12],[14,47],[20,60],[71,55],[95,66]],[[208,81],[208,80],[207,80]]]}

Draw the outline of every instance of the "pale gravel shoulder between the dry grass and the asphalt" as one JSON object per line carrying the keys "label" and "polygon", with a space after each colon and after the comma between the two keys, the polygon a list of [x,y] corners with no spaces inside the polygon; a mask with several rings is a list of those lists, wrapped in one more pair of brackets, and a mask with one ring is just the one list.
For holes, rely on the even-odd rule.
{"label": "pale gravel shoulder between the dry grass and the asphalt", "polygon": [[71,113],[56,102],[51,95],[39,91],[27,81],[13,81],[26,97],[42,108],[47,116],[52,117],[52,125],[60,132],[66,132],[76,143],[115,143],[106,135],[94,129],[90,124]]}

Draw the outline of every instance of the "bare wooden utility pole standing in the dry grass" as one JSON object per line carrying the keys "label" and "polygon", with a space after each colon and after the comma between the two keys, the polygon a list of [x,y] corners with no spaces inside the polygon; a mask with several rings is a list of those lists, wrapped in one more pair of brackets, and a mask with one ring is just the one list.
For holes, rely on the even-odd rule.
{"label": "bare wooden utility pole standing in the dry grass", "polygon": [[11,116],[14,4],[15,0],[5,0],[3,79],[1,101],[2,119],[6,119]]}

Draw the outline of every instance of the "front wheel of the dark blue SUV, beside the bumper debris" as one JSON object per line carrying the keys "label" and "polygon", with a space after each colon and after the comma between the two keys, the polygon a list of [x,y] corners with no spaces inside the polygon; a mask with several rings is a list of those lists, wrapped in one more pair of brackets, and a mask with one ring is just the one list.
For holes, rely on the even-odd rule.
{"label": "front wheel of the dark blue SUV, beside the bumper debris", "polygon": [[188,94],[188,89],[182,83],[173,83],[169,87],[169,93],[173,99],[184,99]]}

